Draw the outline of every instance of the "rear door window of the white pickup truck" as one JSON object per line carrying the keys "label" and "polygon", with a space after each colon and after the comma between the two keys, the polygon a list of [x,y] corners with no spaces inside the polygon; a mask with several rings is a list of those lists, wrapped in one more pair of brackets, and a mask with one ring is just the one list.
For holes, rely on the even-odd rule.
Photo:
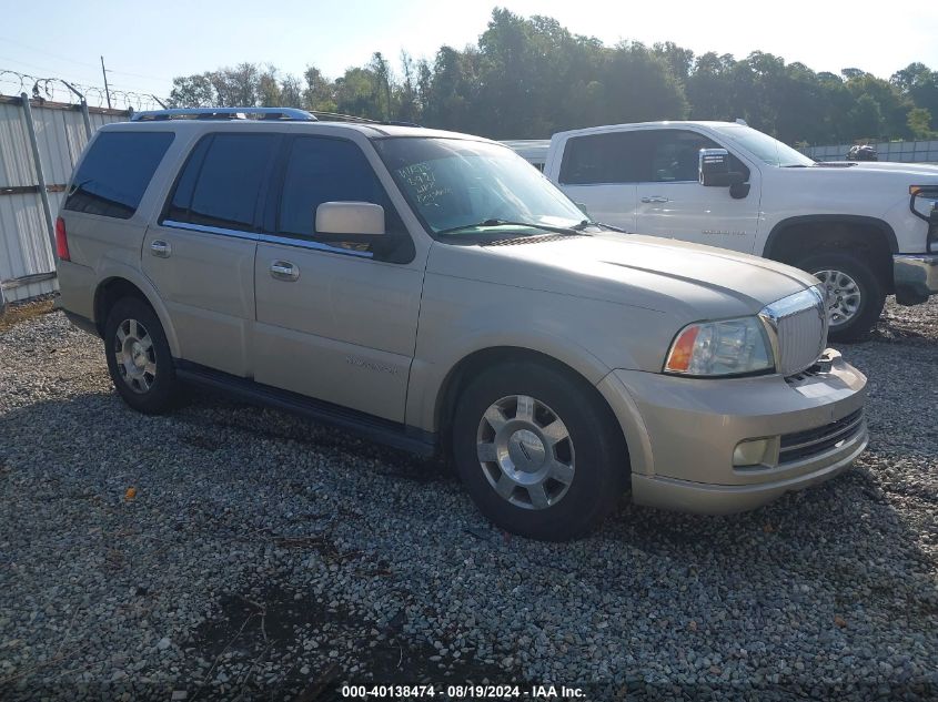
{"label": "rear door window of the white pickup truck", "polygon": [[564,149],[559,182],[594,185],[647,180],[648,143],[644,134],[631,131],[574,136]]}

